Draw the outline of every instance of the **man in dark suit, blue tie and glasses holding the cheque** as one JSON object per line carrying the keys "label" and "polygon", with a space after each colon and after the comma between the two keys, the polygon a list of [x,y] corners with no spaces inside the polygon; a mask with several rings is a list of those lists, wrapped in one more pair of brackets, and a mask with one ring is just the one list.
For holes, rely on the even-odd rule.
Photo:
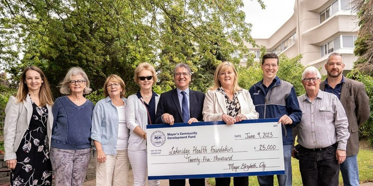
{"label": "man in dark suit, blue tie and glasses holding the cheque", "polygon": [[[157,124],[188,123],[203,120],[202,108],[205,94],[189,89],[192,71],[184,63],[173,70],[176,89],[161,94],[156,113]],[[183,186],[185,179],[169,180],[170,186]],[[205,179],[189,179],[191,186],[204,186]]]}

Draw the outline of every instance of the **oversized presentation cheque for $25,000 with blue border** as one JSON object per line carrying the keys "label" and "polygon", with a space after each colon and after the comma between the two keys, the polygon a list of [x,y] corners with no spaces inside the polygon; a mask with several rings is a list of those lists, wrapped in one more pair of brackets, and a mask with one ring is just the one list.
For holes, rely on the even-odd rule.
{"label": "oversized presentation cheque for $25,000 with blue border", "polygon": [[285,174],[278,120],[147,125],[148,179]]}

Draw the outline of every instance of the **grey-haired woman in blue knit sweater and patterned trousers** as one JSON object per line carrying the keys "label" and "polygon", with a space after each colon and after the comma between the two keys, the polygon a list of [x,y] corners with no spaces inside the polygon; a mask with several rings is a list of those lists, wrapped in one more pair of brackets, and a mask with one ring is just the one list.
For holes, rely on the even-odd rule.
{"label": "grey-haired woman in blue knit sweater and patterned trousers", "polygon": [[52,107],[54,117],[50,159],[56,186],[83,185],[91,159],[91,127],[94,104],[83,97],[91,92],[87,74],[70,68],[61,83],[62,96]]}

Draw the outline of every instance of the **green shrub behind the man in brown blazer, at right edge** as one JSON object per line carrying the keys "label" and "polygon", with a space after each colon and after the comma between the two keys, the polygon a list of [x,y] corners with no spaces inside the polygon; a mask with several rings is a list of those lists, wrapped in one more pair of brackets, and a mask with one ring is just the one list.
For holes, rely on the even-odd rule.
{"label": "green shrub behind the man in brown blazer, at right edge", "polygon": [[360,126],[360,138],[367,138],[373,145],[373,77],[362,72],[348,73],[347,78],[354,79],[364,83],[365,90],[369,97],[370,117],[363,125]]}

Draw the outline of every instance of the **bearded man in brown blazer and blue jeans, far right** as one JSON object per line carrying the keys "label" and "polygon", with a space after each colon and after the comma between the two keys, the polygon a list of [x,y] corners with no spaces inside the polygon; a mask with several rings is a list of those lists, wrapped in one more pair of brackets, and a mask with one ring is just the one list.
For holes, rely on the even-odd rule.
{"label": "bearded man in brown blazer and blue jeans, far right", "polygon": [[344,68],[345,64],[343,63],[342,55],[337,52],[330,54],[325,64],[327,78],[320,84],[320,89],[335,94],[345,109],[350,138],[347,141],[347,158],[341,164],[341,173],[345,186],[358,186],[358,129],[369,118],[369,98],[363,83],[351,80],[342,75]]}

